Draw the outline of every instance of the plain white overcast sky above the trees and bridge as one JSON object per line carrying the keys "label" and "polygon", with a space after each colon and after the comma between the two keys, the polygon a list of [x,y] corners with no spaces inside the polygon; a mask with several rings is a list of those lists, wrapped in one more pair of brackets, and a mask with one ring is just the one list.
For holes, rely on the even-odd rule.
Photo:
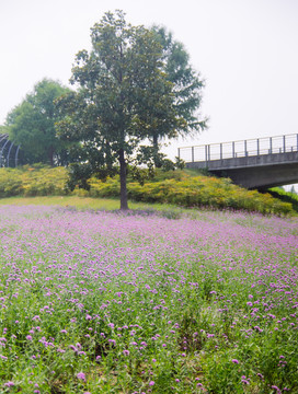
{"label": "plain white overcast sky above the trees and bridge", "polygon": [[0,124],[47,77],[68,84],[90,27],[164,25],[206,81],[209,129],[176,147],[298,132],[298,0],[0,0]]}

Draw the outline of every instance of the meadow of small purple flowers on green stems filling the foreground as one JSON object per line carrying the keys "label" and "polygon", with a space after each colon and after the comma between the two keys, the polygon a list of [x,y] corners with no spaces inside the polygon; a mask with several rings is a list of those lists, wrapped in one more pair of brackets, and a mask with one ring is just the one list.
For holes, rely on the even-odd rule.
{"label": "meadow of small purple flowers on green stems filling the foreground", "polygon": [[1,206],[1,393],[298,393],[298,222]]}

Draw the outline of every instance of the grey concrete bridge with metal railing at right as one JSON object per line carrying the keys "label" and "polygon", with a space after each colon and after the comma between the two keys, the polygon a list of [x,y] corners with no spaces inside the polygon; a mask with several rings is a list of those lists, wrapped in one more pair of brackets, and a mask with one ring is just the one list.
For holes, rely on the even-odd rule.
{"label": "grey concrete bridge with metal railing at right", "polygon": [[206,169],[247,188],[298,183],[298,134],[179,148],[187,169]]}

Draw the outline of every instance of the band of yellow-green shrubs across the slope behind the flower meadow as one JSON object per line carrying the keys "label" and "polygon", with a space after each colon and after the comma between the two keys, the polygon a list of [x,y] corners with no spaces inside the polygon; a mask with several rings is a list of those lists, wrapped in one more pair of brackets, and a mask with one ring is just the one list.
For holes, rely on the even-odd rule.
{"label": "band of yellow-green shrubs across the slope behind the flower meadow", "polygon": [[[19,169],[0,169],[0,198],[11,196],[66,196],[78,195],[96,198],[118,198],[117,176],[105,181],[91,177],[89,190],[70,190],[65,167],[41,165]],[[247,190],[228,178],[205,176],[191,171],[158,171],[152,179],[141,185],[128,174],[128,197],[134,201],[171,204],[180,207],[210,207],[243,209],[261,213],[295,215],[290,202],[280,201],[270,194]]]}

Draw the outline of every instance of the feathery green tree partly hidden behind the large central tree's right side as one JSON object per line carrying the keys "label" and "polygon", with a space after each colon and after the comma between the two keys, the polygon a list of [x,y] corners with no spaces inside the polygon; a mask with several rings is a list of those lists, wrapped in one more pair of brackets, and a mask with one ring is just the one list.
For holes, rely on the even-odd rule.
{"label": "feathery green tree partly hidden behind the large central tree's right side", "polygon": [[[202,118],[198,109],[202,104],[202,90],[204,81],[198,72],[190,65],[190,56],[183,44],[174,40],[171,33],[164,27],[153,26],[152,32],[162,46],[163,71],[167,80],[173,84],[174,108],[179,116],[185,121],[181,124],[176,134],[173,130],[161,127],[154,127],[151,131],[151,141],[156,151],[159,152],[159,140],[163,137],[172,138],[180,136],[192,136],[203,131],[206,128],[206,118]],[[199,119],[200,118],[200,119]],[[156,160],[156,165],[161,163]]]}

